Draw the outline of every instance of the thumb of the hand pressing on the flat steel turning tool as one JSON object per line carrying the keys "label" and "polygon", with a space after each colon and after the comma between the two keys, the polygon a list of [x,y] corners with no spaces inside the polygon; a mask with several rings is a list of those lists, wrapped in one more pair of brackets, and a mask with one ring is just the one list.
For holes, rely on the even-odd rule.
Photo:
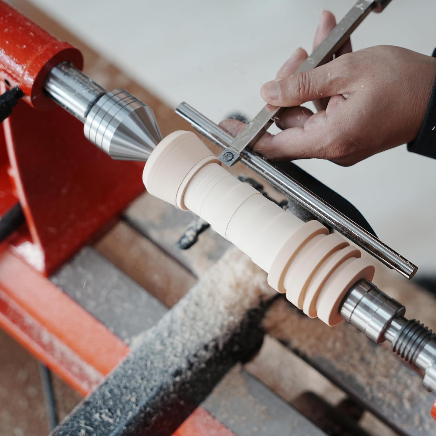
{"label": "thumb of the hand pressing on the flat steel turning tool", "polygon": [[260,90],[262,98],[273,106],[298,106],[347,92],[344,87],[350,82],[352,73],[346,68],[338,68],[338,64],[344,63],[341,58],[313,70],[265,83]]}

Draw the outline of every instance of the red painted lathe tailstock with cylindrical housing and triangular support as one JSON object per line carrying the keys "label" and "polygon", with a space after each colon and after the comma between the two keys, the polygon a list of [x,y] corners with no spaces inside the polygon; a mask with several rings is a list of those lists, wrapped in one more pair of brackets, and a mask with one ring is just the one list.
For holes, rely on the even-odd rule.
{"label": "red painted lathe tailstock with cylindrical housing and triangular support", "polygon": [[1,0],[0,27],[0,92],[19,86],[25,94],[3,123],[0,216],[20,201],[29,232],[15,238],[15,251],[50,274],[143,191],[142,165],[113,161],[85,139],[82,123],[44,95],[54,65],[82,68],[77,48]]}

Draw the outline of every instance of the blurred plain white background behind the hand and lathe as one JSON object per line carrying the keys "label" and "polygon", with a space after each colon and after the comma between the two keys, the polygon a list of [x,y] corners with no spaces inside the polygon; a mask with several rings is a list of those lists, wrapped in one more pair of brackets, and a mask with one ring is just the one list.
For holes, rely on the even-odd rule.
{"label": "blurred plain white background behind the hand and lathe", "polygon": [[[295,48],[310,51],[321,10],[332,10],[340,19],[354,4],[32,1],[170,105],[187,101],[216,122],[235,109],[254,116],[263,104],[262,83]],[[355,31],[353,48],[392,44],[430,55],[436,47],[435,16],[435,0],[392,0]],[[421,272],[436,273],[436,160],[401,146],[349,168],[319,160],[300,164],[351,200],[381,240]]]}

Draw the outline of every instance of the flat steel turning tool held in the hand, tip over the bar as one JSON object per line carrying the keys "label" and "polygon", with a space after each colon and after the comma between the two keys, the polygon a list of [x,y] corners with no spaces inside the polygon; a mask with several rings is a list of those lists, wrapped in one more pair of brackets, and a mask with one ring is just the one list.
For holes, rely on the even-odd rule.
{"label": "flat steel turning tool held in the hand, tip over the bar", "polygon": [[[354,29],[358,27],[376,6],[376,3],[373,0],[359,0],[306,61],[303,62],[296,73],[311,70],[330,59],[347,38],[350,37]],[[265,133],[265,130],[272,124],[273,119],[279,116],[281,110],[282,108],[266,105],[218,156],[221,162],[228,167],[238,162],[245,150],[250,150],[263,133]]]}

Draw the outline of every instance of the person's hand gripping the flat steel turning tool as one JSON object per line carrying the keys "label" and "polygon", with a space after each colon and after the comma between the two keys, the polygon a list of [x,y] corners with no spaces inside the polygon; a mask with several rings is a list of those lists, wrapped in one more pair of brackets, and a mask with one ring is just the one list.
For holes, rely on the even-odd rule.
{"label": "person's hand gripping the flat steel turning tool", "polygon": [[[335,24],[334,15],[324,11],[314,48]],[[393,46],[350,51],[348,41],[333,61],[293,74],[307,58],[298,48],[277,78],[262,86],[267,103],[286,109],[276,120],[283,131],[265,133],[254,146],[256,152],[270,160],[320,158],[349,166],[416,138],[436,59]],[[314,101],[317,113],[298,106],[308,101]],[[221,126],[235,135],[245,127],[235,120]]]}

